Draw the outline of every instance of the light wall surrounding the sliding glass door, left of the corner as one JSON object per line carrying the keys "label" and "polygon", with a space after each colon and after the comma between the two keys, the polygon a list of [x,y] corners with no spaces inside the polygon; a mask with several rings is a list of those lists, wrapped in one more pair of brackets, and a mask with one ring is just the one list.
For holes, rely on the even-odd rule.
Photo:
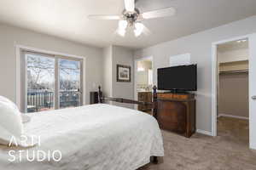
{"label": "light wall surrounding the sliding glass door, left of the corner", "polygon": [[13,101],[16,101],[16,44],[84,56],[86,58],[86,104],[90,103],[90,91],[97,90],[96,85],[102,84],[102,48],[85,46],[61,38],[5,25],[0,25],[0,37],[0,95]]}

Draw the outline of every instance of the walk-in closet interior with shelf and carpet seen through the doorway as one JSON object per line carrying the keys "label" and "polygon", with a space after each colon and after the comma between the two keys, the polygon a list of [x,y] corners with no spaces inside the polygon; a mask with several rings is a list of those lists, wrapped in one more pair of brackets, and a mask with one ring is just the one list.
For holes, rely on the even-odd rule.
{"label": "walk-in closet interior with shelf and carpet seen through the doorway", "polygon": [[217,46],[217,134],[240,145],[249,144],[248,39]]}

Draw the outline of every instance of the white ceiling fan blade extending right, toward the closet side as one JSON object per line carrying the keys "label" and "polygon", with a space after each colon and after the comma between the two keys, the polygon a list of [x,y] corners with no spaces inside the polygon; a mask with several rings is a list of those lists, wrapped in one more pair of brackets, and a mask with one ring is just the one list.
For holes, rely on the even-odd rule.
{"label": "white ceiling fan blade extending right, toward the closet side", "polygon": [[146,13],[143,13],[143,19],[154,19],[154,18],[160,18],[160,17],[166,17],[166,16],[173,16],[176,14],[175,8],[161,8],[154,11],[149,11]]}

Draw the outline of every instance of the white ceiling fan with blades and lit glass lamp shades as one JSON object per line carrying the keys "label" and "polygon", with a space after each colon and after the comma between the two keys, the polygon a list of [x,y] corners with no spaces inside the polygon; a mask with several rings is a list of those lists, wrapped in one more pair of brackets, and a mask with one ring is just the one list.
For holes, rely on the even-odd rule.
{"label": "white ceiling fan with blades and lit glass lamp shades", "polygon": [[125,37],[126,29],[131,27],[136,37],[139,37],[145,28],[142,21],[176,14],[175,8],[161,8],[145,13],[140,13],[139,9],[135,7],[136,0],[125,0],[125,9],[121,15],[104,15],[92,14],[88,18],[90,20],[119,20],[118,33]]}

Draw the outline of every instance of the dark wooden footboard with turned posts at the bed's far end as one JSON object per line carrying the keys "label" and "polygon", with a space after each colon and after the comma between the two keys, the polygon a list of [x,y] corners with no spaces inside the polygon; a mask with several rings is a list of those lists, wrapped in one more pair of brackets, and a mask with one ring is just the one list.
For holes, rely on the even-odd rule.
{"label": "dark wooden footboard with turned posts at the bed's far end", "polygon": [[157,92],[156,92],[156,86],[153,87],[153,102],[143,102],[143,101],[137,101],[133,99],[123,99],[123,98],[112,98],[112,97],[105,97],[102,94],[102,88],[99,86],[99,92],[98,92],[98,102],[104,103],[105,101],[114,101],[119,103],[126,103],[126,104],[135,104],[135,105],[149,105],[151,106],[152,113],[154,118],[157,118]]}

